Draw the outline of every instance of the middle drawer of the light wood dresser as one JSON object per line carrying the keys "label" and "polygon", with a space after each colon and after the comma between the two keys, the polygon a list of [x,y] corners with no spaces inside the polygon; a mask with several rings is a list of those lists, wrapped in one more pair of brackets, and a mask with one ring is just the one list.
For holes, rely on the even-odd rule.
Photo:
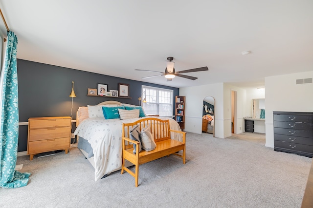
{"label": "middle drawer of the light wood dresser", "polygon": [[57,139],[70,136],[70,127],[30,129],[29,141],[39,141],[45,139]]}

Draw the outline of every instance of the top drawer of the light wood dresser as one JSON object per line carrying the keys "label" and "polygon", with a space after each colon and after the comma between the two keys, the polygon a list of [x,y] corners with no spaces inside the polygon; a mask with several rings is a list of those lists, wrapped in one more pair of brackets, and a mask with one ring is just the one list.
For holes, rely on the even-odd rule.
{"label": "top drawer of the light wood dresser", "polygon": [[61,119],[34,119],[29,120],[29,128],[30,129],[38,129],[38,128],[49,128],[49,127],[63,127],[70,126],[71,119],[70,118],[61,118]]}

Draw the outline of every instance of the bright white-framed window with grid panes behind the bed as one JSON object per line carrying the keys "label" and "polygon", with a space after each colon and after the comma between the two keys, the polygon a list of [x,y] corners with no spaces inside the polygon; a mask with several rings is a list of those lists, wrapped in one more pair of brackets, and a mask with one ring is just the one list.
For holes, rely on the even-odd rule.
{"label": "bright white-framed window with grid panes behind the bed", "polygon": [[142,85],[142,97],[147,102],[141,105],[147,115],[173,115],[173,90]]}

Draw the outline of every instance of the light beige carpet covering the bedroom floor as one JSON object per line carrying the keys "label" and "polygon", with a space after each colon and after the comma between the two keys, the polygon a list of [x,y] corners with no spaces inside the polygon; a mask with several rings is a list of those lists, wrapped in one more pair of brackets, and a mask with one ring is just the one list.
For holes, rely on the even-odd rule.
{"label": "light beige carpet covering the bedroom floor", "polygon": [[186,164],[171,155],[143,164],[139,186],[125,172],[94,181],[94,170],[77,148],[68,154],[18,157],[27,186],[0,188],[0,207],[101,208],[299,208],[312,158],[273,151],[265,135],[186,134]]}

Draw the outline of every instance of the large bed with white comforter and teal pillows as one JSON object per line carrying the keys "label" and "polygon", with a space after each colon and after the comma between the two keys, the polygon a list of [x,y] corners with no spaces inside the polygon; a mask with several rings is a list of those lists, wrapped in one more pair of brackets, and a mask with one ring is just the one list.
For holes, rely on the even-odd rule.
{"label": "large bed with white comforter and teal pillows", "polygon": [[[106,119],[104,109],[117,109],[118,112],[135,112],[140,111],[138,117],[122,116],[121,118]],[[125,108],[125,110],[123,109]],[[120,170],[122,166],[122,123],[134,122],[146,116],[141,106],[134,106],[117,101],[105,101],[96,106],[79,107],[76,113],[76,130],[78,148],[82,151],[88,161],[95,169],[95,181],[98,181],[108,174]],[[138,109],[138,111],[136,111]],[[143,113],[143,114],[142,114]],[[114,114],[116,115],[116,113]],[[113,115],[113,116],[114,116]],[[108,116],[108,115],[107,115]],[[132,117],[132,118],[129,118]],[[107,117],[108,118],[108,117]],[[172,118],[158,117],[163,120],[170,121],[170,128],[180,131],[179,124]],[[182,141],[182,137],[178,133],[174,133],[171,137],[175,140]]]}

